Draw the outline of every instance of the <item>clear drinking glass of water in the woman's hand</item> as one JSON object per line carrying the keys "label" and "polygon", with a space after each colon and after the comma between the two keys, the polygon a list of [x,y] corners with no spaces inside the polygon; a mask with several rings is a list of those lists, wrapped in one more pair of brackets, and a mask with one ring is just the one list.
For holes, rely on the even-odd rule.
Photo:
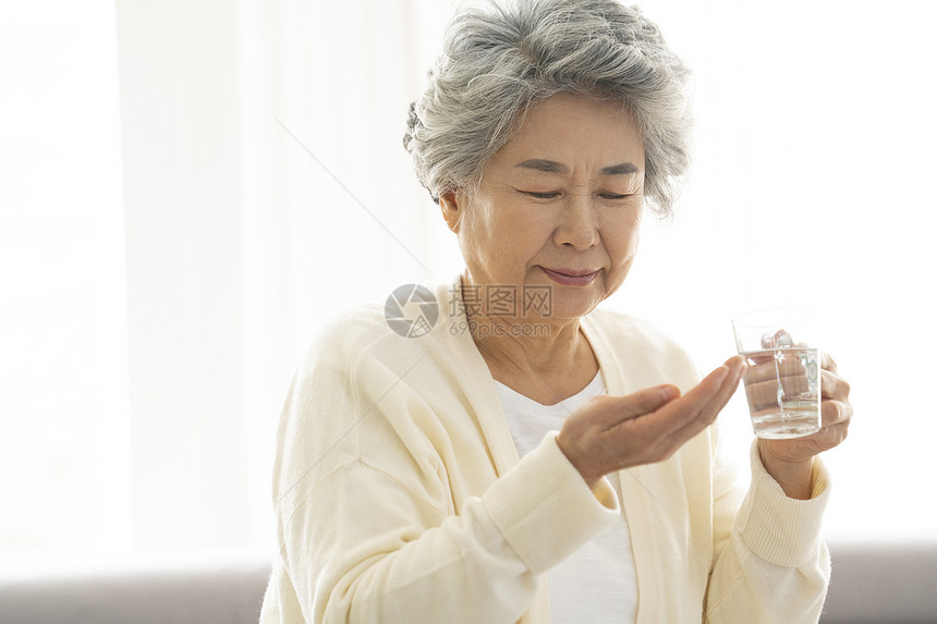
{"label": "clear drinking glass of water in the woman's hand", "polygon": [[820,363],[815,318],[804,308],[771,308],[732,320],[745,357],[745,395],[758,438],[810,436],[820,429]]}

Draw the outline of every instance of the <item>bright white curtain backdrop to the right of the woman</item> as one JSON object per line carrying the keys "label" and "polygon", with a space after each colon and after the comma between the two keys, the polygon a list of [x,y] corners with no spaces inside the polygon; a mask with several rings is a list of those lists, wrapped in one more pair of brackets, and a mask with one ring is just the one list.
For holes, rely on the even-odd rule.
{"label": "bright white curtain backdrop to the right of the woman", "polygon": [[[899,0],[644,2],[695,72],[694,170],[682,212],[647,229],[619,302],[701,367],[731,354],[733,315],[816,306],[852,384],[830,539],[937,539],[937,59],[930,4]],[[744,393],[720,417],[751,437]],[[742,454],[744,460],[744,453]]]}

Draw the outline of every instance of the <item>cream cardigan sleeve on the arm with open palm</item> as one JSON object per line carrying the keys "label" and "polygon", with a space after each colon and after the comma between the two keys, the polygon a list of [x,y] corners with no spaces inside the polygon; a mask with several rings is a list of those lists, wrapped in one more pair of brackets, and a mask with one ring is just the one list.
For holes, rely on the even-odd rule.
{"label": "cream cardigan sleeve on the arm with open palm", "polygon": [[288,400],[268,598],[294,601],[302,620],[261,621],[516,622],[538,575],[618,516],[610,486],[589,491],[548,435],[457,504],[424,396],[380,360],[352,360],[320,358]]}

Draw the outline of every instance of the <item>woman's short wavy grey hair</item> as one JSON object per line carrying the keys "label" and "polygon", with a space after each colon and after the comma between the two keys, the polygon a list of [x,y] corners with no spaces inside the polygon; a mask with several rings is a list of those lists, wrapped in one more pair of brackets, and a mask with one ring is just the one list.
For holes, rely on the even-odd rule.
{"label": "woman's short wavy grey hair", "polygon": [[403,145],[435,201],[477,191],[531,106],[559,93],[622,102],[644,136],[644,195],[672,213],[690,163],[689,70],[636,7],[616,0],[488,0],[460,10]]}

